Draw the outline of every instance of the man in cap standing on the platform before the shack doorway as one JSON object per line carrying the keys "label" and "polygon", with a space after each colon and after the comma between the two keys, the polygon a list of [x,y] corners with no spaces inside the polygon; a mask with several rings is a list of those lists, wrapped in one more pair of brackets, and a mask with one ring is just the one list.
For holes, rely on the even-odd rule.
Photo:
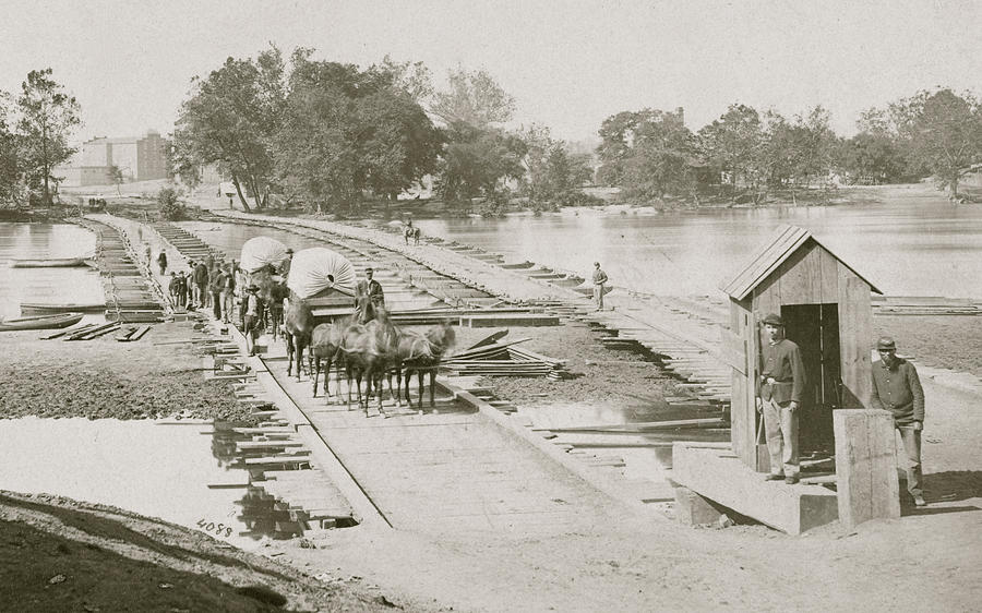
{"label": "man in cap standing on the platform before the shack doorway", "polygon": [[757,411],[764,413],[764,434],[770,455],[768,481],[798,483],[798,410],[805,386],[801,350],[785,338],[785,321],[770,313],[764,317],[769,341],[761,350]]}

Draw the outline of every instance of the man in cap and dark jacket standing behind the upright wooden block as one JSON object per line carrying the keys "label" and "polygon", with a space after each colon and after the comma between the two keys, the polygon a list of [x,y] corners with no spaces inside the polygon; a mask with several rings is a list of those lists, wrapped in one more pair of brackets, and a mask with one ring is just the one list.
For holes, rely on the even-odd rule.
{"label": "man in cap and dark jacket standing behind the upright wooden block", "polygon": [[897,344],[889,336],[876,341],[879,360],[873,362],[873,393],[870,406],[894,413],[907,454],[907,491],[917,506],[924,506],[921,489],[921,431],[924,429],[924,390],[913,364],[897,357]]}

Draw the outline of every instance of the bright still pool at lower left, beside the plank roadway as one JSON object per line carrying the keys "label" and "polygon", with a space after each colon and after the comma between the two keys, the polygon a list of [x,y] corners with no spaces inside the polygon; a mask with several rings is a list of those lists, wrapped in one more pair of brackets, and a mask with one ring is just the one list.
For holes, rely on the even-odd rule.
{"label": "bright still pool at lower left, beside the plank roadway", "polygon": [[[247,436],[235,425],[217,423],[212,434],[208,423],[0,420],[0,489],[112,505],[192,529],[212,525],[212,536],[243,548],[298,533],[288,513],[274,515],[261,482],[250,485],[235,453],[235,440]],[[218,533],[219,524],[230,530]]]}

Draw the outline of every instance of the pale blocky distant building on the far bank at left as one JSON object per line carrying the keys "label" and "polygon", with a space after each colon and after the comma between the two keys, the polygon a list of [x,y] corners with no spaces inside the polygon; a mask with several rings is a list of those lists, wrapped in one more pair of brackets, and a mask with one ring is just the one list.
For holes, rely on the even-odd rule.
{"label": "pale blocky distant building on the far bank at left", "polygon": [[[151,181],[154,179],[167,179],[170,172],[167,168],[167,147],[170,143],[160,137],[158,132],[148,131],[144,136],[100,137],[86,141],[82,145],[79,158],[81,168],[105,168],[108,177],[108,168],[116,166],[122,170],[127,181]],[[86,180],[96,179],[97,173],[92,171],[86,176],[83,172],[82,185]],[[104,180],[99,177],[99,180]],[[111,183],[112,180],[107,181]],[[103,183],[105,184],[105,183]]]}

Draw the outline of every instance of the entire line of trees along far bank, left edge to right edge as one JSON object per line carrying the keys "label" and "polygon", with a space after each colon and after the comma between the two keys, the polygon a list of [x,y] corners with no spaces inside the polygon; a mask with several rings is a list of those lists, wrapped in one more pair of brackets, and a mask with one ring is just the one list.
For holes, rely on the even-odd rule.
{"label": "entire line of trees along far bank, left edge to right edge", "polygon": [[[982,165],[982,105],[949,88],[864,111],[838,136],[822,106],[785,117],[734,104],[693,132],[684,109],[622,111],[603,120],[594,155],[572,154],[542,125],[508,130],[515,100],[483,70],[457,68],[438,89],[421,62],[354,64],[275,46],[228,58],[191,82],[168,151],[194,187],[205,165],[230,177],[244,208],[351,212],[432,181],[438,197],[536,208],[595,202],[583,185],[637,202],[709,195],[759,202],[773,190],[889,183],[933,176],[958,195]],[[0,204],[50,203],[81,109],[50,69],[14,97],[0,92]],[[118,170],[115,175],[119,175]],[[113,179],[119,182],[120,178]]]}

